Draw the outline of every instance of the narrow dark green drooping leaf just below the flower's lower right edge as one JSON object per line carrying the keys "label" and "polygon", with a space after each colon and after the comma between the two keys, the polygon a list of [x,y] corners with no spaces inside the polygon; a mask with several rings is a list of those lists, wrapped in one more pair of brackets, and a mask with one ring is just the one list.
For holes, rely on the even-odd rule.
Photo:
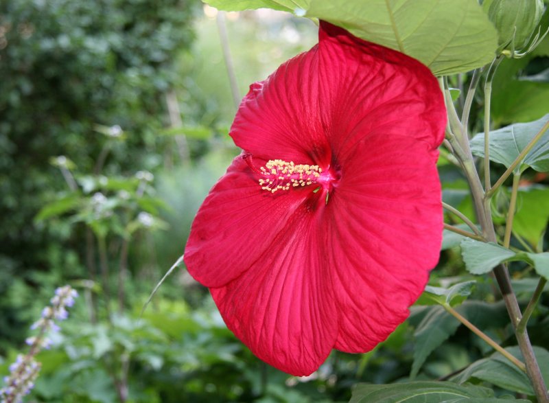
{"label": "narrow dark green drooping leaf just below the flower's lower right edge", "polygon": [[423,365],[429,354],[444,343],[449,336],[452,336],[459,325],[459,321],[446,312],[442,306],[430,308],[414,332],[416,343],[410,378],[417,376],[421,365]]}

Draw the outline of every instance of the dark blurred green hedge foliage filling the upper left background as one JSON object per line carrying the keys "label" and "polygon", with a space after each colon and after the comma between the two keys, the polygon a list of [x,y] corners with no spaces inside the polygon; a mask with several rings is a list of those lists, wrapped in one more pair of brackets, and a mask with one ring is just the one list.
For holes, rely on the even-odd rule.
{"label": "dark blurred green hedge foliage filling the upper left background", "polygon": [[[82,275],[66,224],[34,216],[65,188],[51,157],[67,155],[82,172],[99,173],[97,156],[110,139],[95,125],[119,125],[106,172],[160,165],[172,139],[164,94],[174,59],[194,37],[196,3],[182,0],[6,0],[0,3],[0,294],[33,279],[34,270]],[[169,150],[168,150],[169,151]],[[80,267],[80,268],[79,268]],[[0,301],[0,339],[21,338],[21,321]],[[9,330],[9,331],[8,331]],[[5,347],[5,346],[4,346]],[[0,346],[2,348],[2,346]]]}

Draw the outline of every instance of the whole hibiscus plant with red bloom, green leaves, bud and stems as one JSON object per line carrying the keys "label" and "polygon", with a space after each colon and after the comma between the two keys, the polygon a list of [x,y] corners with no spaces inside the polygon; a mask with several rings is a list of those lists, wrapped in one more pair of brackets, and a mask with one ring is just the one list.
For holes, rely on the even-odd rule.
{"label": "whole hibiscus plant with red bloom, green leaves, bud and stems", "polygon": [[[358,384],[352,402],[549,402],[547,345],[527,331],[549,278],[547,192],[522,181],[549,171],[549,111],[491,114],[492,100],[504,102],[500,66],[540,43],[547,52],[544,3],[207,3],[318,23],[317,45],[250,86],[229,133],[242,153],[185,247],[227,327],[261,360],[309,376],[333,349],[371,351],[412,309],[410,382]],[[441,186],[449,168],[465,187]],[[433,270],[441,247],[460,250],[468,277]],[[524,304],[513,277],[537,281]],[[476,284],[488,285],[485,301],[503,301],[511,337],[484,332],[464,308]],[[414,380],[460,323],[486,357]]]}

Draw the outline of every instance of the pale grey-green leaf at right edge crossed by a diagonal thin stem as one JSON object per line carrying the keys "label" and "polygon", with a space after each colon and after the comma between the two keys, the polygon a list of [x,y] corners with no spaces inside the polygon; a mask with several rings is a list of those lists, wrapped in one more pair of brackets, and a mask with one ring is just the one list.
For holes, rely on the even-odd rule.
{"label": "pale grey-green leaf at right edge crossed by a diagonal thin stem", "polygon": [[[509,168],[547,122],[549,114],[534,122],[512,124],[490,132],[490,161],[502,163]],[[471,140],[471,152],[478,157],[484,157],[484,133],[478,133]],[[549,171],[549,130],[526,154],[522,163],[515,168],[515,173],[523,172],[528,167],[539,172]]]}

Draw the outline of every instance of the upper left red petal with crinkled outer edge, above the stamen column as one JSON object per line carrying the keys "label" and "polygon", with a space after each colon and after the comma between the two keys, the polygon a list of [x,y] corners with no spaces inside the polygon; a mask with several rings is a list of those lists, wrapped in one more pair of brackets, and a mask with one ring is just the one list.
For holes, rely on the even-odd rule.
{"label": "upper left red petal with crinkled outer edge, above the stamen column", "polygon": [[235,144],[254,157],[326,166],[331,159],[318,109],[318,47],[250,86],[231,126]]}

